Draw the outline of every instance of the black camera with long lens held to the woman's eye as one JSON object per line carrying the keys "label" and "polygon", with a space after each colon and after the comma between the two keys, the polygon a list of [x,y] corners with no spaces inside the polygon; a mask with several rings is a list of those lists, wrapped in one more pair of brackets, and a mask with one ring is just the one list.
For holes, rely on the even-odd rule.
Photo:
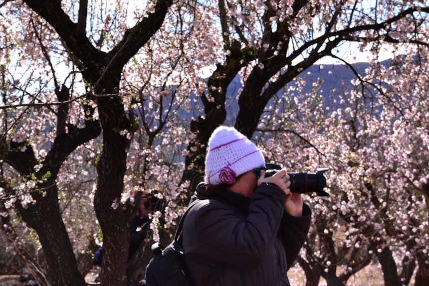
{"label": "black camera with long lens held to the woman's eye", "polygon": [[[264,170],[265,177],[267,178],[274,175],[280,169],[281,166],[278,164],[267,163],[263,168],[256,169],[256,176],[259,178],[260,170]],[[326,178],[323,176],[323,173],[327,170],[329,170],[329,168],[318,168],[315,173],[287,173],[290,178],[290,191],[292,193],[300,194],[315,192],[318,196],[329,196],[329,194],[323,190],[323,188],[326,186]]]}

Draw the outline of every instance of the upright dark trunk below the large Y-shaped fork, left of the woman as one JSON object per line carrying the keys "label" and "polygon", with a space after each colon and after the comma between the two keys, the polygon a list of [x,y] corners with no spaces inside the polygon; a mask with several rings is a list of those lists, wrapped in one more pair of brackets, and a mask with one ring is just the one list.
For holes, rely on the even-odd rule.
{"label": "upright dark trunk below the large Y-shaped fork, left of the woman", "polygon": [[[120,70],[106,75],[98,93],[118,91]],[[97,101],[103,128],[103,150],[97,163],[97,191],[94,208],[103,232],[102,285],[126,285],[129,230],[127,213],[120,207],[127,168],[129,140],[120,131],[130,131],[130,122],[119,98],[99,98]],[[117,205],[116,205],[117,204]]]}

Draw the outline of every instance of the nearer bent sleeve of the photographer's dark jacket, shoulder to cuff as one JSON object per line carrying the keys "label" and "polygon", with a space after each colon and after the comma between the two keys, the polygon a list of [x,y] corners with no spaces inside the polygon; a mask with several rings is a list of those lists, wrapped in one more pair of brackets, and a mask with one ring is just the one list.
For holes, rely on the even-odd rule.
{"label": "nearer bent sleeve of the photographer's dark jacket, shoulder to cuff", "polygon": [[277,235],[285,201],[285,193],[268,183],[256,188],[247,216],[210,201],[195,220],[196,235],[207,247],[196,247],[194,254],[234,267],[257,264]]}

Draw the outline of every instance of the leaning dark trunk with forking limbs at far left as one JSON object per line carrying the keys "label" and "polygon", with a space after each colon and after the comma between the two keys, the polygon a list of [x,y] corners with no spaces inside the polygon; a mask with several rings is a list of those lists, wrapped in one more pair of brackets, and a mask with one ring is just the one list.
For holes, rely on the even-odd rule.
{"label": "leaning dark trunk with forking limbs at far left", "polygon": [[[36,185],[41,191],[31,192],[35,202],[28,204],[26,208],[22,207],[20,201],[15,202],[15,208],[23,220],[37,232],[49,268],[48,277],[52,286],[85,285],[78,271],[70,238],[61,217],[55,180],[67,156],[77,146],[96,138],[99,134],[98,122],[89,120],[85,122],[85,128],[76,128],[69,130],[68,134],[57,136],[42,162],[42,168],[35,173],[35,177],[39,180],[46,177],[43,182]],[[16,149],[19,146],[26,146],[25,150]],[[36,164],[34,152],[25,142],[11,142],[6,161],[26,176],[32,173]]]}

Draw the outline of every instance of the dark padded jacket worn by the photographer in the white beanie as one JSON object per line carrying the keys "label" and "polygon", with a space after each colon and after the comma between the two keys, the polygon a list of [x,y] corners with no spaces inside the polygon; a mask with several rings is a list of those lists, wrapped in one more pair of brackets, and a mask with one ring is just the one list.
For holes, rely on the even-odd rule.
{"label": "dark padded jacket worn by the photographer in the white beanie", "polygon": [[289,286],[287,270],[307,236],[311,210],[287,214],[285,192],[260,184],[251,198],[204,184],[184,222],[185,260],[196,286]]}

